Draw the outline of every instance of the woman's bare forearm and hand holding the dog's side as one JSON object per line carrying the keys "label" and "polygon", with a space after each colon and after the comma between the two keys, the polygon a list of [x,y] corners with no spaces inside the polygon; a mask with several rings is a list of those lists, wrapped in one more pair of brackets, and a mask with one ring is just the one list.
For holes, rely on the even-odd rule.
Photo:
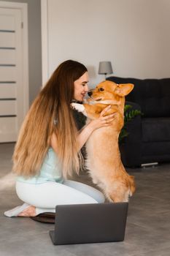
{"label": "woman's bare forearm and hand holding the dog's side", "polygon": [[101,127],[108,127],[111,121],[113,121],[115,113],[109,115],[109,116],[104,116],[104,113],[109,110],[111,106],[108,106],[107,108],[104,108],[104,110],[101,112],[99,118],[94,119],[90,121],[89,124],[87,124],[85,127],[83,127],[80,131],[80,134],[77,137],[77,142],[79,145],[79,149],[84,146],[90,135],[95,129],[101,128]]}

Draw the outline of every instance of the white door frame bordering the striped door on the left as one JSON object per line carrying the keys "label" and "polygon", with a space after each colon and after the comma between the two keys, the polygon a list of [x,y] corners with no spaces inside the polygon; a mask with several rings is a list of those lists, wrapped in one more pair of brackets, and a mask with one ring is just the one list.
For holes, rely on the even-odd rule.
{"label": "white door frame bordering the striped door on the left", "polygon": [[28,88],[28,8],[26,3],[12,1],[0,1],[1,8],[19,9],[22,13],[23,22],[23,114],[29,108],[29,88]]}

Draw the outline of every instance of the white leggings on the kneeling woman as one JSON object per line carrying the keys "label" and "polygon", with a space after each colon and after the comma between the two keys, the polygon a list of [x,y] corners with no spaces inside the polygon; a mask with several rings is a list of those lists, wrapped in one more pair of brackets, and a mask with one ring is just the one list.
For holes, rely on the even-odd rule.
{"label": "white leggings on the kneeling woman", "polygon": [[63,204],[104,203],[104,195],[97,189],[77,181],[66,180],[63,184],[46,182],[27,184],[16,182],[20,200],[36,207],[36,215],[55,212],[55,206]]}

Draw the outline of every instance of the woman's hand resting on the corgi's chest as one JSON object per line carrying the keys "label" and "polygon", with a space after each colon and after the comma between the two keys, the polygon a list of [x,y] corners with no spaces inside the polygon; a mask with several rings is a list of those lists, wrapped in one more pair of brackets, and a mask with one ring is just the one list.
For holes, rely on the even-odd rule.
{"label": "woman's hand resting on the corgi's chest", "polygon": [[101,111],[99,118],[90,121],[88,126],[91,127],[91,129],[93,129],[93,130],[101,128],[101,127],[109,127],[111,125],[111,122],[115,118],[114,117],[115,113],[112,113],[111,115],[108,115],[108,116],[104,116],[104,114],[107,113],[107,111],[110,108],[111,108],[110,105],[107,108],[104,108],[104,110]]}

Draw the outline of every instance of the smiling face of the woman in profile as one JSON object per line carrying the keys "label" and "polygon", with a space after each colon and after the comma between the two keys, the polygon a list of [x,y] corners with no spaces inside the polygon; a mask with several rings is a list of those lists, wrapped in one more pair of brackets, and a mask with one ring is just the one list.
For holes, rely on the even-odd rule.
{"label": "smiling face of the woman in profile", "polygon": [[82,102],[88,91],[88,72],[85,72],[79,79],[74,81],[74,99]]}

